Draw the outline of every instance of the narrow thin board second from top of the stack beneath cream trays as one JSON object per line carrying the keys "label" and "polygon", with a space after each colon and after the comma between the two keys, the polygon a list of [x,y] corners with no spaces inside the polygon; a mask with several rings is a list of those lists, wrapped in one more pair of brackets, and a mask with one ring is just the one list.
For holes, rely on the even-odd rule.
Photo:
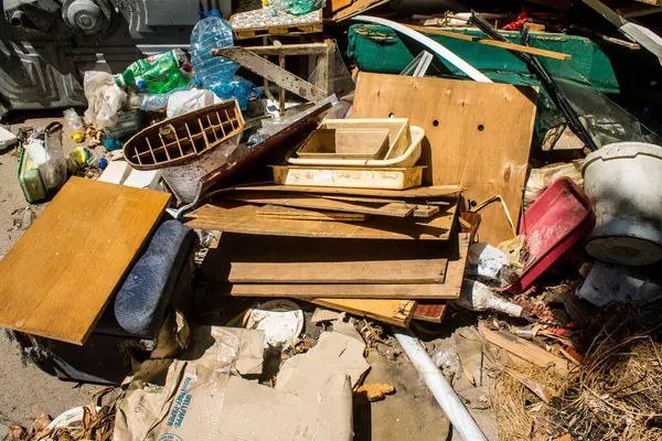
{"label": "narrow thin board second from top of the stack beneath cream trays", "polygon": [[226,200],[248,202],[252,204],[282,205],[298,208],[325,209],[329,212],[373,214],[393,217],[407,217],[416,209],[416,205],[408,205],[405,203],[355,203],[327,200],[305,194],[282,194],[274,192],[233,190],[224,193],[223,196]]}

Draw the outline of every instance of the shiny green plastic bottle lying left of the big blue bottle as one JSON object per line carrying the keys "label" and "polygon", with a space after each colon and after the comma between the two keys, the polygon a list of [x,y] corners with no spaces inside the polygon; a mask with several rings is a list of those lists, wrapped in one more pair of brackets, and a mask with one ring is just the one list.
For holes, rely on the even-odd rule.
{"label": "shiny green plastic bottle lying left of the big blue bottle", "polygon": [[121,74],[115,75],[115,83],[120,87],[136,87],[149,94],[166,94],[189,84],[184,72],[190,71],[186,55],[175,49],[138,60]]}

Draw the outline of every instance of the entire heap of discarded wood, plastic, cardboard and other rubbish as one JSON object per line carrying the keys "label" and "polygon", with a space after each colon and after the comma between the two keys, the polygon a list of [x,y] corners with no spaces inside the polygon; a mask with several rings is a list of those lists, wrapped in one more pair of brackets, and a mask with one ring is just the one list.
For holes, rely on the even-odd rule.
{"label": "entire heap of discarded wood, plastic, cardboard and other rubbish", "polygon": [[662,41],[623,2],[387,3],[212,8],[86,72],[84,118],[1,129],[47,203],[0,325],[117,386],[11,437],[662,434],[661,109],[620,73],[656,92]]}

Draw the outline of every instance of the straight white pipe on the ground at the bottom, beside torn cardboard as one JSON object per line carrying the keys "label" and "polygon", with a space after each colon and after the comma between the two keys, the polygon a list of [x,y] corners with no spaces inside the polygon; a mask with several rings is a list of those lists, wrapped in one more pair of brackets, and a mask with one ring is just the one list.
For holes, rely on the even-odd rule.
{"label": "straight white pipe on the ground at the bottom, beside torn cardboard", "polygon": [[429,357],[425,347],[409,331],[393,329],[395,337],[409,357],[418,374],[423,377],[426,386],[430,389],[439,406],[450,420],[452,427],[458,431],[462,441],[487,441],[488,439],[480,430],[460,397],[446,381],[435,362]]}

